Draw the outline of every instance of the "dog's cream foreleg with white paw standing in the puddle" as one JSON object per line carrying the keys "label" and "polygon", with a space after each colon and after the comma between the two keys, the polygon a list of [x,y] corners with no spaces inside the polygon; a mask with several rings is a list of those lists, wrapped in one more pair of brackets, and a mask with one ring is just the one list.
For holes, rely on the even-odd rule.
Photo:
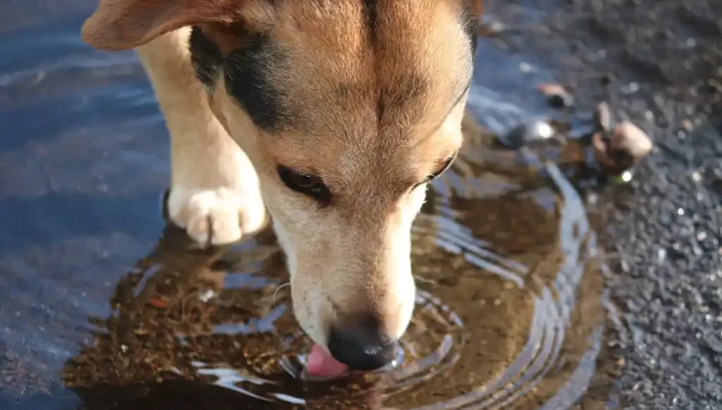
{"label": "dog's cream foreleg with white paw standing in the puddle", "polygon": [[188,51],[188,27],[136,48],[170,133],[168,215],[197,242],[232,243],[263,227],[250,160],[209,108]]}

